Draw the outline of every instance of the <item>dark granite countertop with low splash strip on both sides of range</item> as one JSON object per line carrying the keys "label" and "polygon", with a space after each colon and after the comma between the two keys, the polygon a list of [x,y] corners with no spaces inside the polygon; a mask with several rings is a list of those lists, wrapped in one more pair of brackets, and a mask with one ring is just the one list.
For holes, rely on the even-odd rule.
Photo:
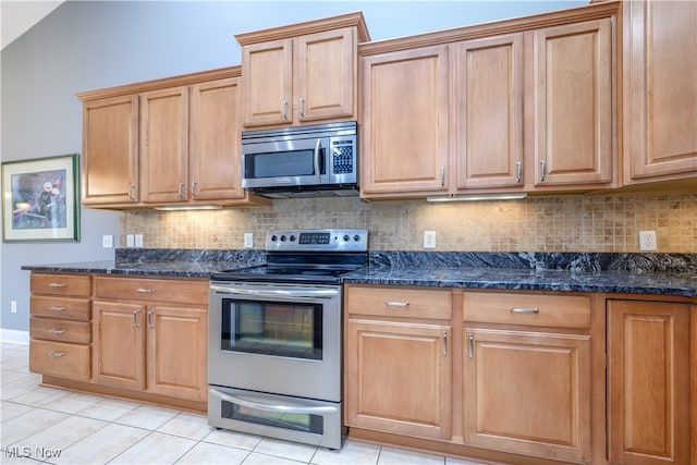
{"label": "dark granite countertop with low splash strip on both sides of range", "polygon": [[[26,265],[24,270],[208,278],[258,266],[260,250],[117,249],[114,260]],[[697,254],[371,252],[346,283],[663,294],[697,297]]]}

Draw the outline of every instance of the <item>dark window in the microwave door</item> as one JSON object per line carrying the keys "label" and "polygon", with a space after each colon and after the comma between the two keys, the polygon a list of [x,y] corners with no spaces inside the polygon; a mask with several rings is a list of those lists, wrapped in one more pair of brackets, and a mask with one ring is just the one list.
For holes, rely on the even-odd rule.
{"label": "dark window in the microwave door", "polygon": [[[245,178],[311,176],[315,174],[315,150],[289,150],[247,155],[250,164]],[[320,149],[319,172],[325,174],[325,149]]]}

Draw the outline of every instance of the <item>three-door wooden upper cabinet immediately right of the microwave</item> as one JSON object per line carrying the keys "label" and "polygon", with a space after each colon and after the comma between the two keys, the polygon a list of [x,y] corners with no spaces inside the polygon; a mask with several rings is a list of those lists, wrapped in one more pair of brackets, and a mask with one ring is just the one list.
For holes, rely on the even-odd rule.
{"label": "three-door wooden upper cabinet immediately right of the microwave", "polygon": [[617,8],[362,45],[362,196],[612,187]]}

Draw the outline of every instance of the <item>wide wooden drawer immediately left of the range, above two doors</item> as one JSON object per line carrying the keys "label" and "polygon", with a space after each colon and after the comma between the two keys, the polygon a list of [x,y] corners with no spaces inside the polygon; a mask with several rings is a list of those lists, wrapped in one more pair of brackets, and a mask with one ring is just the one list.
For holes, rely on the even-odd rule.
{"label": "wide wooden drawer immediately left of the range, above two doors", "polygon": [[95,277],[95,296],[208,305],[208,281]]}

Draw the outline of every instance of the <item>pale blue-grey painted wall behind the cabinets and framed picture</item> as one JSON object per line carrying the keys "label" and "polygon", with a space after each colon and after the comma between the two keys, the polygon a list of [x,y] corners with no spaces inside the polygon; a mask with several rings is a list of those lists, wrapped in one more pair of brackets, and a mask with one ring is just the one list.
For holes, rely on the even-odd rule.
{"label": "pale blue-grey painted wall behind the cabinets and framed picture", "polygon": [[[586,3],[68,1],[2,49],[2,161],[81,152],[76,93],[239,64],[237,33],[359,10],[379,40]],[[112,259],[102,234],[119,236],[119,213],[83,209],[80,243],[2,243],[0,328],[28,329],[29,273],[22,265]]]}

